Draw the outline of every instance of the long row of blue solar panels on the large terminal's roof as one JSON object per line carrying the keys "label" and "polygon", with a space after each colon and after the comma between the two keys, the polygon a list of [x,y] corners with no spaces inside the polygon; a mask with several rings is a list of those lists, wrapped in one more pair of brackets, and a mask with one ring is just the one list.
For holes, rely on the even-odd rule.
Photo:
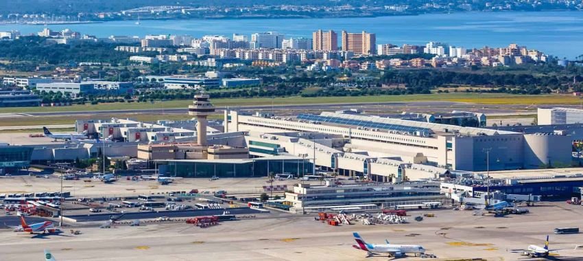
{"label": "long row of blue solar panels on the large terminal's roof", "polygon": [[382,122],[373,122],[367,120],[353,120],[353,119],[345,119],[341,117],[330,117],[330,116],[322,116],[322,115],[313,115],[313,114],[300,114],[298,115],[298,119],[300,120],[309,120],[315,122],[330,122],[334,124],[342,124],[342,125],[352,125],[357,127],[365,127],[365,128],[382,128],[385,130],[391,131],[401,131],[407,133],[416,133],[420,132],[423,135],[429,135],[431,133],[431,129],[429,128],[422,128],[416,126],[405,126],[405,125],[398,125],[398,124],[387,124]]}

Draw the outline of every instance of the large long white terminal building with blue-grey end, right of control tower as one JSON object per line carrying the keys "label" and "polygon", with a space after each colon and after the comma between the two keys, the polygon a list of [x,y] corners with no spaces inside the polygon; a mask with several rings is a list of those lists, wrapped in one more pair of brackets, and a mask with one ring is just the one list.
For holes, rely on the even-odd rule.
{"label": "large long white terminal building with blue-grey end, right of control tower", "polygon": [[[365,174],[374,169],[371,164],[375,163],[418,164],[417,168],[438,168],[433,171],[440,172],[446,169],[479,171],[488,167],[490,170],[536,169],[547,164],[571,165],[572,161],[572,138],[556,131],[520,133],[342,111],[320,115],[300,114],[297,117],[243,115],[237,111],[228,111],[225,115],[225,130],[248,133],[246,141],[250,152],[254,152],[253,147],[266,150],[276,147],[292,152],[292,155],[308,153],[307,157],[316,155],[317,166],[331,170],[341,169],[340,164],[362,166],[359,169]],[[313,146],[316,151],[297,152],[293,144],[285,144],[284,141],[288,139],[282,141],[278,137],[266,135],[283,133],[305,135],[298,137],[300,141],[295,143],[296,147]],[[310,133],[331,137],[312,138]],[[261,142],[272,145],[257,146],[259,143],[253,137],[259,137]],[[336,144],[332,144],[334,140]],[[316,141],[316,144],[311,145],[312,141]],[[340,159],[346,157],[353,162],[340,162]]]}

